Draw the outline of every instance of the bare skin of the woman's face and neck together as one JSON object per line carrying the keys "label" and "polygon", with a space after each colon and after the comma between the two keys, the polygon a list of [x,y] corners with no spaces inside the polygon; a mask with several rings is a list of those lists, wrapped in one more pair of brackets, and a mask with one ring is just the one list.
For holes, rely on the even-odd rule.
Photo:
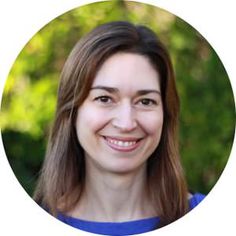
{"label": "bare skin of the woman's face and neck together", "polygon": [[76,119],[86,184],[71,216],[120,222],[157,215],[146,195],[146,163],[162,132],[159,81],[138,54],[115,54],[98,71]]}

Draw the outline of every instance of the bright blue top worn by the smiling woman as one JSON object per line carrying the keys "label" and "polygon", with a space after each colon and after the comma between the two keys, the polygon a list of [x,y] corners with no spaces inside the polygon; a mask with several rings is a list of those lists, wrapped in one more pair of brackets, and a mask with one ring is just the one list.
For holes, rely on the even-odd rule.
{"label": "bright blue top worn by the smiling woman", "polygon": [[[205,196],[200,193],[194,194],[192,198],[189,199],[190,210],[196,207],[204,199],[204,197]],[[90,233],[116,236],[146,233],[157,229],[160,223],[159,217],[113,223],[81,220],[63,215],[62,213],[58,214],[58,219],[70,226]]]}

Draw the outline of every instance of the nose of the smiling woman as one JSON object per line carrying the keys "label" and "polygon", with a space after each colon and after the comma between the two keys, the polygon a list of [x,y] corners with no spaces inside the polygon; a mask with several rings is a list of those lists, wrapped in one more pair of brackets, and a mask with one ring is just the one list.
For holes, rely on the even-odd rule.
{"label": "nose of the smiling woman", "polygon": [[122,132],[132,131],[137,127],[135,110],[131,104],[127,102],[119,105],[112,119],[112,125]]}

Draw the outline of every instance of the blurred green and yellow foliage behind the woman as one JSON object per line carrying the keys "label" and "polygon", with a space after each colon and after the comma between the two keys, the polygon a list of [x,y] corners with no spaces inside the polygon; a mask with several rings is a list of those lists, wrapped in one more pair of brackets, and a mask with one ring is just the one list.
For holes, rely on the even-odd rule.
{"label": "blurred green and yellow foliage behind the woman", "polygon": [[156,7],[106,1],[72,10],[41,29],[19,54],[2,101],[9,162],[29,194],[44,158],[63,64],[95,26],[128,20],[151,27],[168,47],[181,99],[180,147],[190,189],[207,193],[230,154],[235,106],[229,79],[209,44],[181,19]]}

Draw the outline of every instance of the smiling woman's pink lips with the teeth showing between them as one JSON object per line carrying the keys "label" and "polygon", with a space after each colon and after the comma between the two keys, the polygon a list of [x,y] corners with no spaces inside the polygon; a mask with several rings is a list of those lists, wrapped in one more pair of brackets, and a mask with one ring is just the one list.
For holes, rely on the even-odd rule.
{"label": "smiling woman's pink lips with the teeth showing between them", "polygon": [[142,138],[103,136],[106,144],[115,151],[132,152],[140,146]]}

